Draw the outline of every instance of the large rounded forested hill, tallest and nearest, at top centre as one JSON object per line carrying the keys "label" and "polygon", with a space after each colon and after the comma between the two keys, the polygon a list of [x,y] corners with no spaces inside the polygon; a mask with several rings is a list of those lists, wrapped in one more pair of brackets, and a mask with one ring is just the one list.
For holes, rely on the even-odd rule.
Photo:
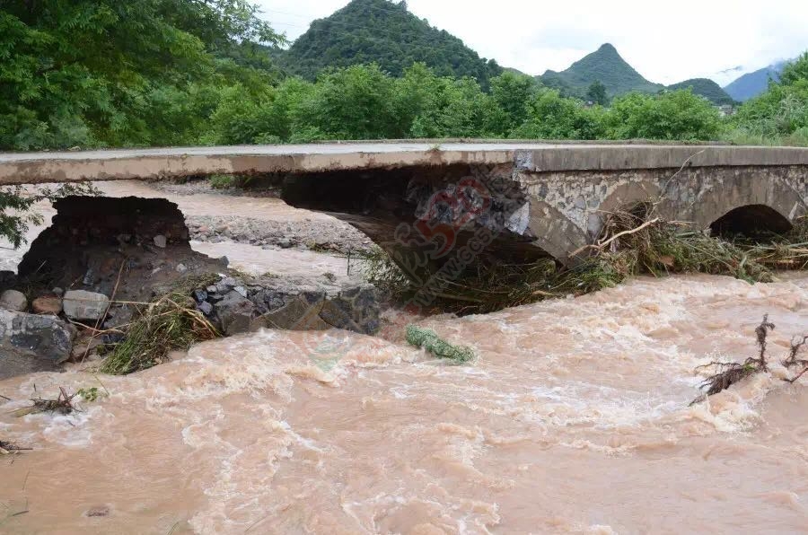
{"label": "large rounded forested hill, tallest and nearest, at top centre", "polygon": [[496,62],[480,58],[447,31],[407,10],[406,2],[353,0],[311,28],[278,56],[290,74],[313,79],[324,68],[377,63],[394,76],[415,62],[437,75],[472,76],[487,87],[502,74]]}

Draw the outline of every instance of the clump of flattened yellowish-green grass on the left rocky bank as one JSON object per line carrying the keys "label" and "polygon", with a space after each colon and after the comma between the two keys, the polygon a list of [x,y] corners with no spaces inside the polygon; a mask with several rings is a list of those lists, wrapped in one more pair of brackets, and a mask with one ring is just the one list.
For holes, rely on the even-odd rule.
{"label": "clump of flattened yellowish-green grass on the left rocky bank", "polygon": [[101,372],[133,373],[165,362],[171,351],[186,350],[205,340],[221,337],[191,292],[215,281],[216,276],[189,277],[152,303],[137,303],[136,318],[114,329],[123,335],[101,363]]}

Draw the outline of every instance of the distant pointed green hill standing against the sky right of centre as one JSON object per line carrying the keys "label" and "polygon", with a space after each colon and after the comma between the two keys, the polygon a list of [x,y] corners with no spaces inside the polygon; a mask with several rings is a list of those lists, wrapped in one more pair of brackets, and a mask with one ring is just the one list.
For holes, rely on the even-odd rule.
{"label": "distant pointed green hill standing against the sky right of centre", "polygon": [[663,89],[663,85],[648,82],[637,73],[609,43],[579,59],[566,71],[547,71],[539,79],[541,83],[573,96],[583,96],[595,81],[605,85],[610,96],[632,91],[659,92]]}

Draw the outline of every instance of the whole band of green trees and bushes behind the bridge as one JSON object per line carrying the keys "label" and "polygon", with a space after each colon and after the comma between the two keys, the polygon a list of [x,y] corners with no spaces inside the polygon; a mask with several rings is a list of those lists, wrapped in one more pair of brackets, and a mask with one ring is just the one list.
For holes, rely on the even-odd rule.
{"label": "whole band of green trees and bushes behind the bridge", "polygon": [[[406,13],[405,6],[392,5]],[[333,139],[808,142],[808,55],[729,118],[688,89],[586,101],[510,71],[449,76],[416,62],[289,76],[283,41],[247,0],[0,0],[0,149]],[[604,106],[604,104],[606,104]]]}

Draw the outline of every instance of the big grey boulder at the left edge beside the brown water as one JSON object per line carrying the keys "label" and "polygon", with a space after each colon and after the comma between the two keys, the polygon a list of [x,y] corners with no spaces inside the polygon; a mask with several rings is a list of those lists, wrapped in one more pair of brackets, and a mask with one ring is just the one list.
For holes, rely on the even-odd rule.
{"label": "big grey boulder at the left edge beside the brown water", "polygon": [[0,309],[0,380],[57,370],[72,346],[73,333],[56,316]]}

